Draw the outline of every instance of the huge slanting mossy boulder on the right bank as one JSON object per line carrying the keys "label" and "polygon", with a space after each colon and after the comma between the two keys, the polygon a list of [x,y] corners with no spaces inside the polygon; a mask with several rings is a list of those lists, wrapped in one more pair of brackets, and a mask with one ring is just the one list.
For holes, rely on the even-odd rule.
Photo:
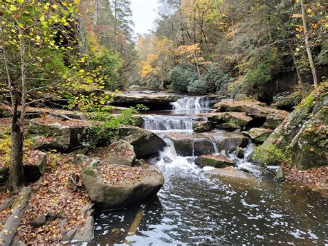
{"label": "huge slanting mossy boulder on the right bank", "polygon": [[[327,105],[328,83],[324,83],[302,100],[257,148],[255,161],[280,164],[290,160],[299,169],[326,165]],[[272,155],[273,152],[280,154],[279,160],[277,155]]]}

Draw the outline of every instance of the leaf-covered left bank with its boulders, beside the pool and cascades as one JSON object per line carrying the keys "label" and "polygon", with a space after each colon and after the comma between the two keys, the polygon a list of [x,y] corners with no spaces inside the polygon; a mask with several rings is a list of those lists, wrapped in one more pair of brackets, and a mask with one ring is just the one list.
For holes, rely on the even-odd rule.
{"label": "leaf-covered left bank with its boulders, beside the pool and cascades", "polygon": [[[84,143],[101,123],[81,119],[85,118],[82,114],[71,118],[76,114],[61,113],[42,112],[26,123],[26,181],[39,181],[26,184],[26,205],[17,212],[19,216],[15,214],[17,226],[11,231],[12,236],[3,237],[5,244],[88,241],[94,229],[93,204],[102,209],[126,207],[147,200],[163,186],[161,172],[136,159],[156,154],[165,146],[156,134],[133,126],[109,128],[111,140],[98,139],[94,143],[97,148],[88,151]],[[2,143],[10,121],[1,118],[1,122]],[[8,153],[3,152],[0,157],[2,184],[8,182]],[[103,193],[100,187],[104,187]],[[1,235],[6,235],[12,225],[10,209],[18,202],[14,198],[1,196]]]}

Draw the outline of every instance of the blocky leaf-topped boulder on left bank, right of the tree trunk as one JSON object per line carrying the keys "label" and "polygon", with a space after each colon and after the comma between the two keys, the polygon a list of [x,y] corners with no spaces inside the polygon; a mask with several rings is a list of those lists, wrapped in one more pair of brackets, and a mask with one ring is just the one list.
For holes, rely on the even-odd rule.
{"label": "blocky leaf-topped boulder on left bank, right of the tree trunk", "polygon": [[28,125],[28,134],[39,150],[72,152],[82,146],[86,129],[92,123],[84,120],[60,120],[57,117],[35,118]]}

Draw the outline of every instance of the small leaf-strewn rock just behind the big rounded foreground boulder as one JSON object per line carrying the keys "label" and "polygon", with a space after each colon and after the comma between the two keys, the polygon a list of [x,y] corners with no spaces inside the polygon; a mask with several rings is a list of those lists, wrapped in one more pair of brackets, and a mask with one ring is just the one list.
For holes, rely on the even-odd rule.
{"label": "small leaf-strewn rock just behind the big rounded foreground boulder", "polygon": [[104,161],[108,164],[134,166],[136,161],[136,154],[134,153],[134,146],[124,140],[112,143],[109,146],[109,152],[105,153]]}

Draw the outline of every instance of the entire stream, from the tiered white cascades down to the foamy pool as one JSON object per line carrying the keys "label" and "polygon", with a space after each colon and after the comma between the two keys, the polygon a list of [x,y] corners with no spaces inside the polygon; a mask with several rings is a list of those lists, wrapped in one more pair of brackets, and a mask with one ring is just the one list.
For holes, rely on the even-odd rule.
{"label": "entire stream, from the tiered white cascades down to the foamy pool", "polygon": [[166,134],[192,135],[192,123],[205,119],[199,114],[211,112],[213,103],[206,96],[185,97],[172,103],[172,110],[145,114],[143,128],[167,143],[158,157],[148,160],[163,172],[165,184],[143,204],[96,211],[91,245],[328,244],[327,197],[276,182],[273,167],[250,162],[253,143],[239,159],[213,141],[213,154],[233,159],[237,169],[249,172],[247,178],[217,175],[213,168],[196,166],[194,156],[176,154]]}

